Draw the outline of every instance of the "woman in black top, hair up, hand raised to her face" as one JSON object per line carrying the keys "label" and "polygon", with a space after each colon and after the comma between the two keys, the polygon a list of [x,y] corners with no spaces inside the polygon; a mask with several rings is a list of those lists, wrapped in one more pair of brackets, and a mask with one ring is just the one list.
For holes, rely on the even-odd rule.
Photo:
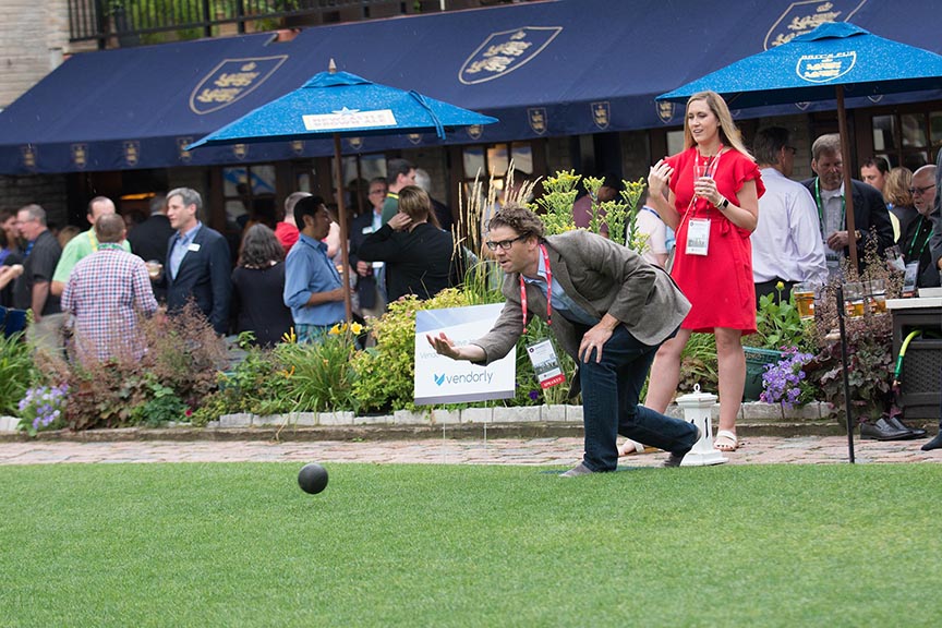
{"label": "woman in black top, hair up, hand raised to her face", "polygon": [[438,227],[432,200],[418,185],[399,191],[399,213],[363,240],[358,255],[386,263],[390,303],[406,294],[424,301],[464,279],[463,249]]}

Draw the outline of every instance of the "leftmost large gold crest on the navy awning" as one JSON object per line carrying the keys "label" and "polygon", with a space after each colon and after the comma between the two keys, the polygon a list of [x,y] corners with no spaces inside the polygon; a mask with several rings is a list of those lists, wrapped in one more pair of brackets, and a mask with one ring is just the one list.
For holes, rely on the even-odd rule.
{"label": "leftmost large gold crest on the navy awning", "polygon": [[241,100],[267,81],[287,59],[287,55],[226,59],[190,94],[190,109],[203,116]]}

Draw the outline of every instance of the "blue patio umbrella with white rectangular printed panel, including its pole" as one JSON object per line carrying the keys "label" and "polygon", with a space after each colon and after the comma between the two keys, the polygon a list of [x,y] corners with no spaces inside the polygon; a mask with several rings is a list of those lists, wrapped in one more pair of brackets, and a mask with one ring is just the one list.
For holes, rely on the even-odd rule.
{"label": "blue patio umbrella with white rectangular printed panel, including its pole", "polygon": [[[439,140],[444,140],[446,130],[494,122],[497,122],[496,118],[442,102],[418,92],[397,89],[373,83],[355,74],[337,72],[331,60],[328,72],[321,72],[298,89],[250,111],[186,148],[189,150],[220,144],[333,137],[339,192],[343,189],[340,169],[341,136],[396,135],[434,131]],[[338,193],[337,201],[340,239],[346,242],[347,209],[343,195]],[[349,321],[352,314],[349,261],[347,247],[341,246],[340,250],[345,305]]]}

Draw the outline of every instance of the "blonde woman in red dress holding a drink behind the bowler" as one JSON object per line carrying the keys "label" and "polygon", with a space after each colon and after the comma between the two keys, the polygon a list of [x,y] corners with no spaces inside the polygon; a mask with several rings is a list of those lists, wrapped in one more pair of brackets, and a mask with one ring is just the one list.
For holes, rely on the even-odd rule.
{"label": "blonde woman in red dress holding a drink behind the bowler", "polygon": [[[687,101],[685,150],[651,168],[654,207],[677,232],[671,275],[693,305],[677,336],[661,346],[644,406],[664,412],[680,378],[680,353],[691,333],[716,336],[720,428],[714,446],[734,451],[736,415],[746,384],[740,338],[756,331],[756,288],[749,234],[765,192],[723,98],[714,92]],[[669,188],[669,194],[664,193]]]}

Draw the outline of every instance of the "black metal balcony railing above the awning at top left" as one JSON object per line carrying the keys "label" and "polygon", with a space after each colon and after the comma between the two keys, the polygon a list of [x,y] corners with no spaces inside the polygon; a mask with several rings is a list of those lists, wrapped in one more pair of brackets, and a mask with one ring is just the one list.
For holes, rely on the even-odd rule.
{"label": "black metal balcony railing above the awning at top left", "polygon": [[[439,0],[68,0],[71,41],[99,48],[439,11]],[[449,9],[491,2],[449,0]]]}

